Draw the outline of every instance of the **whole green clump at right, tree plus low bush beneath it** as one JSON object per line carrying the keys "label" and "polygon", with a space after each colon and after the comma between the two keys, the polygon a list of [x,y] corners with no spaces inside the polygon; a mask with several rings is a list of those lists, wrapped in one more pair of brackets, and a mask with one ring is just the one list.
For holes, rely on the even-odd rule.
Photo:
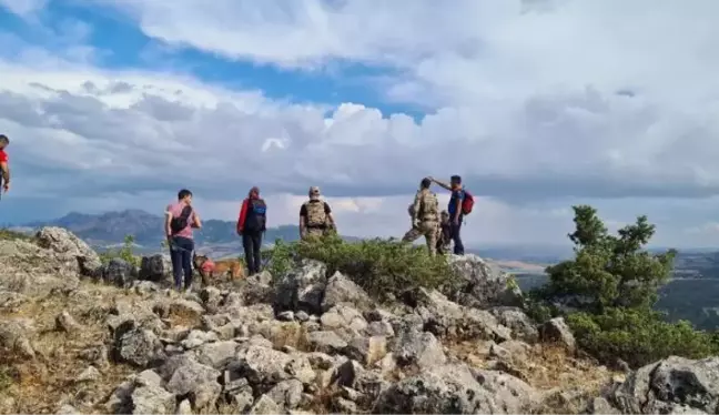
{"label": "whole green clump at right, tree plus low bush beneath it", "polygon": [[[696,331],[690,323],[668,323],[652,311],[658,289],[669,281],[676,251],[650,254],[644,246],[655,233],[646,216],[610,235],[597,211],[574,206],[569,234],[575,259],[547,267],[549,282],[529,295],[528,314],[546,321],[565,312],[580,347],[612,363],[636,367],[669,355],[700,358],[719,353],[719,333]],[[565,308],[568,310],[568,308]]]}

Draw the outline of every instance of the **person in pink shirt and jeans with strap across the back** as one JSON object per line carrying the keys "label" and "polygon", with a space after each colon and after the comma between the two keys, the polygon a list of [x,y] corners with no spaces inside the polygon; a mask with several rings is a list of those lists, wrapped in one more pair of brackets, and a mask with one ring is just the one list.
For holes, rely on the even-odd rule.
{"label": "person in pink shirt and jeans with strap across the back", "polygon": [[178,202],[165,210],[165,236],[170,245],[172,274],[178,291],[192,287],[192,252],[194,251],[193,229],[201,229],[200,215],[192,208],[192,192],[186,189],[178,193]]}

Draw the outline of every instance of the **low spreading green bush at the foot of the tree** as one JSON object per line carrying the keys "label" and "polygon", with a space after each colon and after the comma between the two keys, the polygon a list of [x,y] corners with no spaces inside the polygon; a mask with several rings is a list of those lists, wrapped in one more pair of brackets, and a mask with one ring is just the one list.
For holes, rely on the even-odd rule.
{"label": "low spreading green bush at the foot of the tree", "polygon": [[639,367],[670,355],[702,358],[719,353],[716,334],[696,331],[689,322],[667,323],[656,312],[610,308],[602,314],[567,316],[581,348],[604,362],[620,357]]}

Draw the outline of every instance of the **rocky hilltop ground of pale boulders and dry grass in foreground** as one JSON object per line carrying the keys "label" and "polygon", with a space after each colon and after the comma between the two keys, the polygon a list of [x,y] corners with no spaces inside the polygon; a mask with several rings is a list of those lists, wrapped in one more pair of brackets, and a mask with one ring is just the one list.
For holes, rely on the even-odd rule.
{"label": "rocky hilltop ground of pale boulders and dry grass in foreground", "polygon": [[719,414],[719,357],[614,372],[477,256],[462,295],[375,302],[302,261],[169,291],[61,227],[0,240],[1,414]]}

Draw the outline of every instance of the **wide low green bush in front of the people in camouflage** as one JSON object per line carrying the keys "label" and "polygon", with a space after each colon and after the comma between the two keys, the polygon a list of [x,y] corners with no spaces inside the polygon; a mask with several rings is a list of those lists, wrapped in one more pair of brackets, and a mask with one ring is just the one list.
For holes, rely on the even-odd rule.
{"label": "wide low green bush in front of the people in camouflage", "polygon": [[433,257],[424,246],[394,240],[348,243],[328,235],[312,242],[277,241],[264,256],[275,276],[283,275],[303,259],[321,261],[327,265],[328,275],[340,271],[381,300],[418,286],[448,287],[458,281],[445,256]]}

